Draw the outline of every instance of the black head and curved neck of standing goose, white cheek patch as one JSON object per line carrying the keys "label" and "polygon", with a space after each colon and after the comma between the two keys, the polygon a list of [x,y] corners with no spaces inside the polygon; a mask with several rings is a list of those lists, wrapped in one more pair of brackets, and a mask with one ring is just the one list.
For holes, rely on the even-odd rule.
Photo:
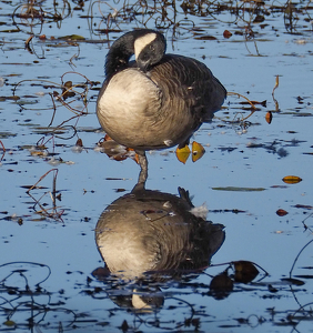
{"label": "black head and curved neck of standing goose, white cheek patch", "polygon": [[137,65],[147,72],[161,61],[166,50],[165,38],[151,29],[139,29],[123,34],[114,41],[107,56],[105,77],[109,80],[114,73],[122,71],[135,57]]}

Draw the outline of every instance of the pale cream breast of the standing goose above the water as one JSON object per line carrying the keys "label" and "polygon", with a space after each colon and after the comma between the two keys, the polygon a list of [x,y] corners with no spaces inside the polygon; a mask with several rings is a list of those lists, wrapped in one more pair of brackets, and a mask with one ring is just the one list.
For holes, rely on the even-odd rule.
{"label": "pale cream breast of the standing goose above the water", "polygon": [[[104,131],[124,145],[133,145],[143,123],[153,121],[160,108],[158,87],[138,69],[127,69],[110,80],[98,100],[98,118]],[[151,119],[152,115],[152,119]]]}

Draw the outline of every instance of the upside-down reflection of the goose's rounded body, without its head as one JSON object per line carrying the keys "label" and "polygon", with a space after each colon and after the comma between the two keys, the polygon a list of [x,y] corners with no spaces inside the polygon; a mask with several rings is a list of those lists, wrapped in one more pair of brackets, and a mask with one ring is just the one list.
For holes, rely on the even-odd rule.
{"label": "upside-down reflection of the goose's rounded body, without its head", "polygon": [[[111,274],[125,280],[201,270],[224,241],[223,225],[191,212],[189,193],[180,196],[135,188],[101,214],[98,249]],[[158,274],[156,274],[158,273]]]}

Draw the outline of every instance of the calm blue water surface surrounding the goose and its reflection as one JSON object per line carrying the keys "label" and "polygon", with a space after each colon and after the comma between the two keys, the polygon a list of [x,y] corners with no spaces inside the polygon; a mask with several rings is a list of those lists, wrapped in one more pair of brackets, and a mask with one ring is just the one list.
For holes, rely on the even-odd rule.
{"label": "calm blue water surface surrounding the goose and its reflection", "polygon": [[[110,4],[118,9],[122,7]],[[60,77],[68,71],[77,71],[94,82],[103,81],[108,43],[100,40],[105,40],[107,36],[98,36],[95,30],[90,29],[91,20],[81,17],[88,13],[89,3],[85,3],[84,12],[73,10],[72,16],[61,21],[59,27],[46,20],[42,27],[33,28],[36,36],[31,46],[40,58],[43,54],[43,59],[24,49],[24,41],[30,36],[26,21],[18,24],[21,31],[7,32],[14,28],[9,14],[18,6],[14,1],[0,2],[0,21],[3,22],[0,26],[0,77],[4,79],[1,97],[12,95],[14,84],[22,80],[40,79],[60,84]],[[46,11],[53,11],[49,6],[43,2]],[[71,6],[74,7],[72,2]],[[271,10],[271,3],[265,2],[264,6]],[[303,9],[305,6],[299,3],[297,7]],[[290,286],[281,282],[282,278],[289,278],[301,249],[312,240],[313,73],[312,26],[305,21],[307,14],[304,10],[297,13],[297,33],[289,33],[279,11],[265,17],[264,23],[269,26],[264,28],[252,24],[256,33],[258,56],[253,40],[246,43],[243,36],[235,34],[235,31],[243,31],[241,27],[245,24],[240,18],[222,11],[218,17],[189,14],[190,21],[184,22],[180,3],[176,3],[176,9],[175,20],[183,21],[175,33],[172,27],[164,29],[168,51],[203,61],[229,91],[254,101],[266,100],[267,105],[258,105],[259,110],[248,119],[249,125],[241,128],[230,121],[241,117],[238,112],[246,117],[249,111],[239,104],[242,99],[229,97],[225,108],[215,114],[212,123],[202,125],[193,138],[205,148],[202,159],[193,163],[190,158],[182,164],[173,150],[149,153],[147,188],[178,194],[178,186],[181,186],[189,190],[194,205],[205,202],[209,209],[206,219],[224,224],[226,234],[221,249],[212,258],[212,264],[252,261],[266,270],[270,276],[261,273],[254,280],[255,284],[235,283],[234,291],[218,301],[208,294],[209,284],[212,276],[221,273],[226,265],[209,268],[206,274],[202,273],[189,282],[161,283],[159,287],[163,292],[164,304],[154,313],[137,314],[113,303],[112,283],[98,281],[91,275],[94,269],[104,266],[95,245],[94,229],[102,211],[135,185],[139,165],[131,159],[121,162],[110,160],[94,150],[104,134],[95,117],[97,90],[88,91],[88,115],[81,117],[78,123],[75,120],[67,123],[77,127],[77,135],[70,140],[64,140],[65,135],[54,138],[54,143],[48,141],[48,155],[31,154],[42,138],[38,133],[39,128],[47,128],[52,118],[49,92],[60,92],[60,89],[44,89],[42,84],[46,83],[37,81],[39,85],[31,85],[34,81],[26,81],[14,90],[19,101],[0,102],[0,140],[7,150],[0,167],[0,264],[7,264],[0,266],[0,330],[9,327],[6,321],[10,319],[14,330],[29,331],[27,320],[34,315],[33,321],[41,332],[57,332],[60,325],[64,331],[120,332],[124,320],[131,332],[194,330],[196,321],[188,326],[189,319],[199,320],[202,332],[292,332],[292,325],[283,325],[287,323],[287,315],[312,301],[312,279],[307,278],[312,278],[312,245],[300,254],[292,272],[294,278],[306,275],[296,278],[305,283]],[[104,3],[101,3],[101,10],[105,14],[109,12]],[[95,26],[92,27],[103,29],[105,24],[101,21],[97,3],[93,12],[92,23]],[[169,14],[173,19],[170,9]],[[144,21],[148,16],[139,14],[137,19]],[[203,34],[213,36],[216,40],[194,39],[196,36],[190,30],[191,21],[203,30]],[[153,28],[153,22],[150,19],[148,27]],[[118,17],[111,29],[119,27],[124,32],[141,24]],[[233,33],[230,39],[223,38],[225,29]],[[38,38],[43,33],[46,41]],[[87,40],[71,43],[51,40],[51,37],[73,33]],[[110,40],[120,34],[110,33]],[[78,53],[78,58],[72,60],[73,67],[69,61]],[[272,98],[276,75],[280,75],[280,82],[274,97],[279,112],[275,112]],[[65,78],[77,83],[84,82],[79,75]],[[302,100],[299,101],[297,97]],[[31,104],[23,103],[21,108],[21,101]],[[72,107],[81,110],[83,103],[75,100]],[[274,111],[271,124],[265,122],[267,111]],[[60,107],[53,125],[73,115],[70,110]],[[44,138],[48,140],[50,135]],[[78,138],[83,142],[80,152],[73,149]],[[262,147],[251,148],[251,144]],[[51,161],[52,152],[57,153],[54,159],[62,159],[62,163]],[[53,190],[52,172],[39,183],[44,189],[30,192],[41,208],[37,204],[33,209],[36,201],[23,188],[33,185],[53,168],[58,169],[55,186],[61,193],[61,201],[55,202],[60,219],[55,214],[47,216],[53,205],[50,195]],[[297,175],[302,181],[285,184],[282,179],[286,175]],[[229,191],[230,186],[236,191]],[[46,214],[44,211],[42,214],[43,208]],[[289,214],[279,216],[279,209]],[[235,214],[231,210],[241,212]],[[51,270],[51,275],[40,283],[42,290],[50,293],[50,299],[43,291],[32,295],[32,300],[40,304],[34,310],[36,314],[31,314],[27,305],[31,303],[31,295],[23,291],[28,283],[34,292],[36,284],[47,276],[48,269],[13,262],[41,263]],[[17,273],[10,275],[17,269],[26,269],[27,279]],[[260,282],[261,278],[264,279]],[[91,279],[89,283],[88,279]],[[269,285],[276,292],[271,292]],[[10,294],[10,287],[16,287],[17,292]],[[97,287],[98,293],[94,293]],[[131,294],[132,286],[128,285],[120,293]],[[48,306],[53,311],[47,311]],[[273,314],[269,309],[276,312]],[[309,311],[309,306],[304,310]],[[305,320],[294,320],[296,330],[309,332],[312,330],[312,313],[301,314]]]}

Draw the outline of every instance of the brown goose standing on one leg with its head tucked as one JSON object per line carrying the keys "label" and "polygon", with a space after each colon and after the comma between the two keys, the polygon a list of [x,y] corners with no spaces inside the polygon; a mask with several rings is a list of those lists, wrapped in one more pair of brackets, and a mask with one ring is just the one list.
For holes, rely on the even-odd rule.
{"label": "brown goose standing on one leg with its head tucked", "polygon": [[[108,52],[105,81],[97,101],[101,127],[139,153],[145,176],[147,150],[184,147],[226,97],[205,64],[165,54],[165,48],[163,34],[154,30],[120,37]],[[129,62],[133,54],[135,61]]]}

